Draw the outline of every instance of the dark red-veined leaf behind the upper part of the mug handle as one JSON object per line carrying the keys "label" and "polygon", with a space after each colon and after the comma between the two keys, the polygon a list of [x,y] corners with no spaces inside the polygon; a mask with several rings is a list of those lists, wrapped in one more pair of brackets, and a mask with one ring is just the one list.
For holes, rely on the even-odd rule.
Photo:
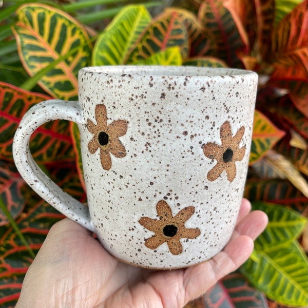
{"label": "dark red-veined leaf behind the upper part of the mug handle", "polygon": [[[13,160],[13,137],[23,115],[33,104],[49,99],[47,95],[0,82],[0,159]],[[32,135],[30,147],[38,163],[72,161],[75,157],[66,121],[53,121],[38,128]]]}

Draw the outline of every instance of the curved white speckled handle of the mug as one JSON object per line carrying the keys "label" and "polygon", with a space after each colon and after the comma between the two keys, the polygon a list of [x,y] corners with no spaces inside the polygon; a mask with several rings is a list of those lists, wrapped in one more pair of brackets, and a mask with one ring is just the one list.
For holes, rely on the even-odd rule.
{"label": "curved white speckled handle of the mug", "polygon": [[73,121],[82,124],[79,102],[49,100],[38,103],[25,113],[13,140],[13,158],[24,180],[31,188],[68,218],[94,232],[89,209],[74,199],[47,177],[34,162],[29,141],[32,133],[46,122],[53,120]]}

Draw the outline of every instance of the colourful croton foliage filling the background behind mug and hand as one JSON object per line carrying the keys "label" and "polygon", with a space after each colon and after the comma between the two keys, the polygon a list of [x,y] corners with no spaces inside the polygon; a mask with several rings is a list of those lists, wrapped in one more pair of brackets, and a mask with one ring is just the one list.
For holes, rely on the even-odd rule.
{"label": "colourful croton foliage filling the background behind mug and hand", "polygon": [[[43,100],[77,100],[80,68],[119,64],[258,72],[244,197],[269,223],[240,270],[187,307],[307,306],[308,0],[179,1],[152,14],[160,3],[44,3],[0,11],[0,306],[14,306],[49,228],[63,218],[14,166],[18,122]],[[30,146],[48,176],[86,203],[79,144],[73,123],[54,121]]]}

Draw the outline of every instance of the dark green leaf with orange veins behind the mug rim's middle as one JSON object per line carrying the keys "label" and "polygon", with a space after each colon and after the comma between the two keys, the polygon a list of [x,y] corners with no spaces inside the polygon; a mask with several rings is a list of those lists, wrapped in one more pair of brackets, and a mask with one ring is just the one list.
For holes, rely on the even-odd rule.
{"label": "dark green leaf with orange veins behind the mug rim's middle", "polygon": [[182,59],[186,59],[189,52],[186,27],[177,12],[162,13],[143,32],[140,41],[127,57],[127,64],[148,59],[158,52],[175,46],[180,48]]}

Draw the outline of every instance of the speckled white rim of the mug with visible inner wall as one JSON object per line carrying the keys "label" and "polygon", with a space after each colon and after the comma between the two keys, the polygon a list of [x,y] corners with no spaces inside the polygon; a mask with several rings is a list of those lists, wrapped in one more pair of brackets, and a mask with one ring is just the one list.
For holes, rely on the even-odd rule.
{"label": "speckled white rim of the mug with visible inner wall", "polygon": [[114,75],[114,76],[165,76],[187,78],[215,78],[231,77],[238,78],[243,75],[258,74],[252,70],[230,67],[198,67],[198,66],[163,66],[163,65],[105,65],[89,66],[80,69],[79,74]]}

